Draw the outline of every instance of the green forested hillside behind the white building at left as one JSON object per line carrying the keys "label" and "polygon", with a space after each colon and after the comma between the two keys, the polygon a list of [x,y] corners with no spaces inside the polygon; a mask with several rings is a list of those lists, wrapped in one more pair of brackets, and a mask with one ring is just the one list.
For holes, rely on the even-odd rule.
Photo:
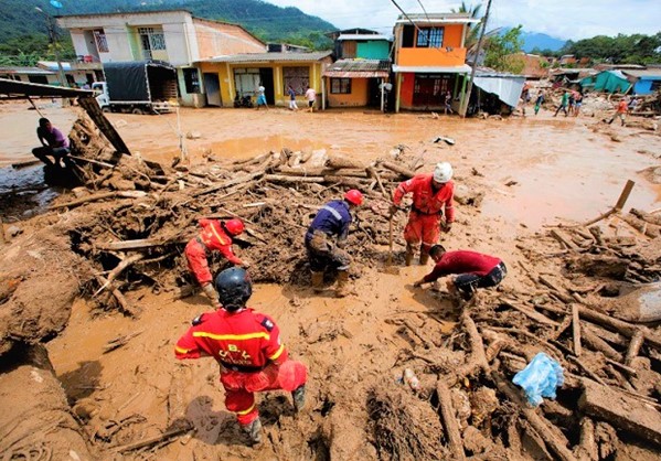
{"label": "green forested hillside behind the white building at left", "polygon": [[[62,9],[47,0],[0,0],[0,44],[22,35],[45,34],[46,22],[36,7],[51,15],[185,9],[199,18],[234,22],[265,41],[295,42],[330,47],[330,22],[305,14],[298,8],[280,8],[262,0],[61,0]],[[64,34],[65,36],[68,34]],[[309,43],[305,43],[305,42]]]}

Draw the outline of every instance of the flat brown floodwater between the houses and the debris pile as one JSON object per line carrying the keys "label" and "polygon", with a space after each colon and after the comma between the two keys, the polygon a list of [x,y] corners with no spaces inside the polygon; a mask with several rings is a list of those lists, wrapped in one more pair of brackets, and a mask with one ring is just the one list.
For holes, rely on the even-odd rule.
{"label": "flat brown floodwater between the houses and the debris pile", "polygon": [[[54,125],[68,129],[78,109],[62,109],[43,103],[43,112]],[[8,142],[0,151],[0,165],[30,160],[35,144],[39,115],[24,103],[0,106],[0,133]],[[282,148],[311,151],[327,149],[361,159],[390,159],[395,146],[426,163],[449,161],[457,184],[477,173],[484,176],[488,193],[482,213],[514,225],[537,228],[558,221],[583,221],[615,204],[628,179],[636,181],[627,206],[659,206],[661,186],[639,174],[657,165],[646,152],[661,151],[659,136],[642,136],[630,128],[593,132],[591,118],[539,117],[504,120],[434,118],[429,114],[379,115],[361,110],[290,112],[285,109],[189,109],[162,116],[110,114],[108,118],[134,153],[170,162],[179,156],[177,126],[192,163],[204,156],[241,159]],[[188,139],[185,133],[200,137]],[[451,137],[455,146],[434,143],[438,136]],[[427,167],[426,170],[429,170]],[[0,172],[0,176],[11,171]],[[1,181],[1,178],[0,178]],[[510,185],[508,185],[510,184]],[[460,207],[458,218],[460,219]]]}

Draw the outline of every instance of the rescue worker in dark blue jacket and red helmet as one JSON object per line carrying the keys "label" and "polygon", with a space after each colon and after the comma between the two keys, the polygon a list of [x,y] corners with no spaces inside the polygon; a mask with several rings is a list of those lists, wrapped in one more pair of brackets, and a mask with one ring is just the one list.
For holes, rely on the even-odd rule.
{"label": "rescue worker in dark blue jacket and red helmet", "polygon": [[363,194],[360,191],[347,191],[343,200],[333,200],[323,205],[308,227],[305,242],[314,291],[321,290],[323,272],[330,266],[338,269],[335,294],[338,298],[349,294],[351,256],[342,247],[353,221],[351,211],[362,203]]}

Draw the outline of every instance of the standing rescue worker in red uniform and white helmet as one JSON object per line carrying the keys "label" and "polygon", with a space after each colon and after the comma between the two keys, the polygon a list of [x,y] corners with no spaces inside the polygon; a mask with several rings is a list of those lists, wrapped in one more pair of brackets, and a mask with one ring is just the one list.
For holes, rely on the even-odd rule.
{"label": "standing rescue worker in red uniform and white helmet", "polygon": [[434,174],[417,174],[401,183],[395,190],[391,214],[401,210],[404,195],[413,194],[408,223],[404,228],[406,266],[411,266],[417,245],[420,245],[420,265],[426,265],[429,260],[429,248],[438,243],[440,230],[450,232],[455,222],[455,184],[450,181],[451,178],[452,167],[443,162],[436,164]]}

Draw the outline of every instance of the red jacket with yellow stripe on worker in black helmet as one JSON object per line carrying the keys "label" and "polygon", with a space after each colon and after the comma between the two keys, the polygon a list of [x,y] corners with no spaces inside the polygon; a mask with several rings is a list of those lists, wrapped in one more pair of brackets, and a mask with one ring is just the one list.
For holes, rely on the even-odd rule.
{"label": "red jacket with yellow stripe on worker in black helmet", "polygon": [[238,312],[218,309],[193,321],[177,342],[177,358],[200,358],[203,353],[213,356],[225,368],[253,373],[269,362],[287,361],[287,350],[280,344],[280,330],[270,317],[250,308]]}

